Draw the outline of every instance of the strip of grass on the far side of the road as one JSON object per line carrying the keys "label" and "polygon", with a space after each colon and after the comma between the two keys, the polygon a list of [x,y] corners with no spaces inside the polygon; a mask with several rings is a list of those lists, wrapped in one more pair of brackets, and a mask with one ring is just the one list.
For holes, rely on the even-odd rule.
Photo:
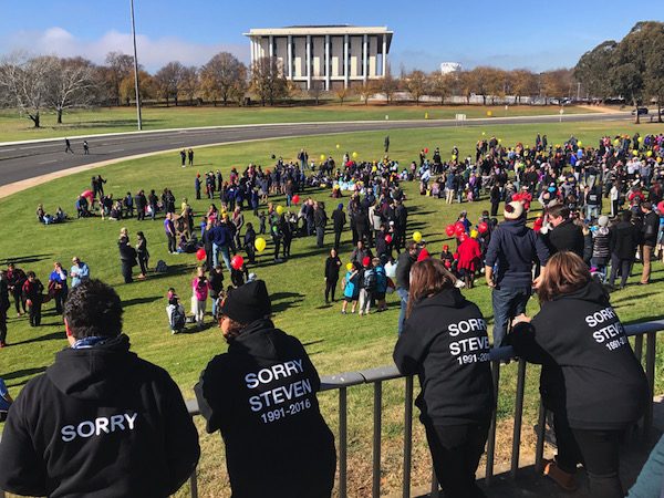
{"label": "strip of grass on the far side of the road", "polygon": [[[390,120],[453,120],[455,114],[467,117],[486,117],[490,111],[495,117],[558,114],[558,106],[415,106],[415,105],[363,105],[349,103],[301,105],[293,107],[145,107],[144,129],[187,128],[195,126],[222,126],[257,123],[302,123],[330,121],[383,121]],[[567,114],[592,112],[581,107],[566,107]],[[42,114],[41,129],[34,129],[32,122],[9,110],[0,111],[0,142],[29,141],[101,133],[135,132],[135,107],[103,107],[71,111],[64,114],[63,124],[56,124],[54,113]]]}

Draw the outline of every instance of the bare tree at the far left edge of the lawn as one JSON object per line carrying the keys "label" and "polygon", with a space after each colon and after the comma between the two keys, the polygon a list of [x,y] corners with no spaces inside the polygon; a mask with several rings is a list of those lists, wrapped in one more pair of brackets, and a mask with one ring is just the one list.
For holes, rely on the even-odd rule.
{"label": "bare tree at the far left edge of the lawn", "polygon": [[41,111],[48,106],[53,58],[25,59],[13,55],[0,64],[0,95],[40,127]]}

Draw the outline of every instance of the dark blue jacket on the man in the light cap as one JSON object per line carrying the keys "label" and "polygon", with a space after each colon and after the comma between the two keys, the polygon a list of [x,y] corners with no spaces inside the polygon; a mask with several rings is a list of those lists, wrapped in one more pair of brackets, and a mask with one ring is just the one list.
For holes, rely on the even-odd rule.
{"label": "dark blue jacket on the man in the light cap", "polygon": [[526,219],[507,220],[491,232],[486,266],[494,267],[496,284],[508,289],[530,289],[532,263],[542,266],[549,259],[549,249],[538,235],[526,226]]}

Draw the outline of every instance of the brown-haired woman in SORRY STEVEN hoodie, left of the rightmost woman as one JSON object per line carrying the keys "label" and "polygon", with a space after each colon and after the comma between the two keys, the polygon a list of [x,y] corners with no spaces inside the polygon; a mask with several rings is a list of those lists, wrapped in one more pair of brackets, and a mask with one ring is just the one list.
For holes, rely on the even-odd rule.
{"label": "brown-haired woman in SORRY STEVEN hoodie, left of the rightmost woman", "polygon": [[394,362],[401,373],[419,376],[415,404],[445,496],[484,497],[475,473],[495,406],[487,323],[440,260],[416,262],[411,279]]}

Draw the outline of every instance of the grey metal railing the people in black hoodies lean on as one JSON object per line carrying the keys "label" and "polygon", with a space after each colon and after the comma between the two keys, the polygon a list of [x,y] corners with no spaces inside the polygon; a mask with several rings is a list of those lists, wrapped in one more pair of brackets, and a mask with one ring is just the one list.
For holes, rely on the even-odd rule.
{"label": "grey metal railing the people in black hoodies lean on", "polygon": [[[657,332],[664,331],[664,320],[637,323],[625,326],[629,336],[634,336],[634,353],[641,361],[643,357],[643,338],[646,336],[645,345],[645,374],[647,376],[651,400],[654,395],[655,385],[655,353]],[[498,400],[500,384],[500,362],[515,359],[511,346],[494,347],[490,352],[491,372],[494,376],[494,390]],[[526,361],[518,361],[517,390],[515,397],[512,448],[510,457],[510,476],[516,478],[519,470],[519,453],[521,446],[521,424],[523,415],[523,397],[526,390]],[[364,370],[360,372],[345,372],[321,377],[321,391],[339,392],[339,434],[336,438],[339,452],[339,483],[338,491],[340,498],[347,496],[347,388],[360,384],[373,384],[373,444],[372,444],[372,497],[381,495],[381,433],[382,433],[382,408],[383,408],[383,383],[402,378],[394,365],[381,366],[378,369]],[[196,400],[187,402],[191,416],[199,415]],[[546,409],[540,401],[539,417],[537,425],[536,444],[536,469],[541,471],[544,450]],[[653,405],[643,417],[643,433],[647,435],[653,423]],[[403,454],[403,483],[402,496],[411,497],[411,467],[413,449],[413,376],[405,377],[404,391],[404,454]],[[496,411],[491,415],[491,425],[487,440],[487,459],[485,469],[485,484],[490,486],[495,469],[496,449]],[[190,478],[191,497],[198,498],[198,481],[196,470]],[[439,487],[436,476],[432,469],[430,497],[439,497]],[[0,496],[0,498],[2,498]]]}

